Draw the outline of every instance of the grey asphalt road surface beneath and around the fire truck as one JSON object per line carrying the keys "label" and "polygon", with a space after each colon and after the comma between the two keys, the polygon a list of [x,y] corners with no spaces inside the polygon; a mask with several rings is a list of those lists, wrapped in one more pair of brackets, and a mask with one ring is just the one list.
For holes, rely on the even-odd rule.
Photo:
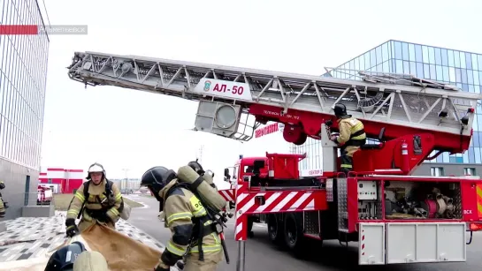
{"label": "grey asphalt road surface beneath and around the fire truck", "polygon": [[[165,244],[171,237],[171,232],[164,228],[164,223],[157,219],[157,200],[151,197],[129,195],[127,196],[147,207],[134,208],[129,222],[144,230],[159,242]],[[233,219],[228,222],[226,230],[226,245],[231,258],[231,263],[219,264],[218,271],[235,271],[237,259],[237,242],[233,237]],[[373,270],[381,271],[473,271],[482,269],[482,233],[474,234],[472,244],[467,246],[467,262],[441,263],[441,264],[407,264],[389,266],[358,266],[357,243],[342,247],[338,242],[325,241],[323,246],[313,250],[312,255],[299,260],[286,250],[271,244],[268,239],[267,229],[264,224],[255,224],[253,227],[255,237],[246,242],[246,271],[281,271],[281,270]],[[314,245],[317,245],[315,243]],[[319,243],[318,243],[319,245]],[[315,246],[316,247],[316,246]]]}

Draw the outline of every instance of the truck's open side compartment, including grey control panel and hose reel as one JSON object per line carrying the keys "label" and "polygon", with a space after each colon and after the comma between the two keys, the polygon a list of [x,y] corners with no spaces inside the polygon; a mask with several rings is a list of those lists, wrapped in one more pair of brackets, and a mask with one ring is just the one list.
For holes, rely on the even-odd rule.
{"label": "truck's open side compartment, including grey control panel and hose reel", "polygon": [[359,180],[357,189],[360,220],[462,219],[460,182]]}

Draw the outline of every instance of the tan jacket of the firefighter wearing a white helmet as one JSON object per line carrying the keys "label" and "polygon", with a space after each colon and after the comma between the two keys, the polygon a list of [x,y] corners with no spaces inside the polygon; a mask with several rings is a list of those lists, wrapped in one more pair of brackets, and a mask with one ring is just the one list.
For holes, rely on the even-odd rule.
{"label": "tan jacket of the firefighter wearing a white helmet", "polygon": [[[84,193],[86,192],[85,185],[88,185],[87,193]],[[75,192],[66,218],[76,219],[82,211],[81,222],[94,222],[94,220],[108,222],[106,221],[108,217],[112,223],[116,223],[119,221],[119,215],[123,207],[124,200],[116,184],[106,179],[103,179],[99,185],[88,184],[87,182],[80,185]]]}

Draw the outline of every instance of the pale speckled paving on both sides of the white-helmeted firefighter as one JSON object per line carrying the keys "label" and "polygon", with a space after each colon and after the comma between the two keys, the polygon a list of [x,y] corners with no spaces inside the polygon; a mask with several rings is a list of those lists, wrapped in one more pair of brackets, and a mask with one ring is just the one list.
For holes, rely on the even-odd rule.
{"label": "pale speckled paving on both sides of the white-helmeted firefighter", "polygon": [[[6,221],[7,231],[0,233],[0,243],[10,240],[31,241],[13,245],[0,245],[0,262],[24,260],[50,252],[65,241],[65,212],[56,212],[49,218],[20,217]],[[117,229],[125,235],[163,251],[161,245],[144,231],[120,220]]]}

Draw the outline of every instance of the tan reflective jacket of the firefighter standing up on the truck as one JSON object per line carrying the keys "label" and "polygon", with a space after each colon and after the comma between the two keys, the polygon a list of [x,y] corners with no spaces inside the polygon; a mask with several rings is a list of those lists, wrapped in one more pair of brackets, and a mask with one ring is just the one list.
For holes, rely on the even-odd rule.
{"label": "tan reflective jacket of the firefighter standing up on the truck", "polygon": [[355,147],[353,151],[347,149],[348,155],[353,154],[356,149],[365,144],[366,133],[363,130],[363,123],[355,117],[341,117],[338,120],[340,136],[336,139],[341,148]]}

